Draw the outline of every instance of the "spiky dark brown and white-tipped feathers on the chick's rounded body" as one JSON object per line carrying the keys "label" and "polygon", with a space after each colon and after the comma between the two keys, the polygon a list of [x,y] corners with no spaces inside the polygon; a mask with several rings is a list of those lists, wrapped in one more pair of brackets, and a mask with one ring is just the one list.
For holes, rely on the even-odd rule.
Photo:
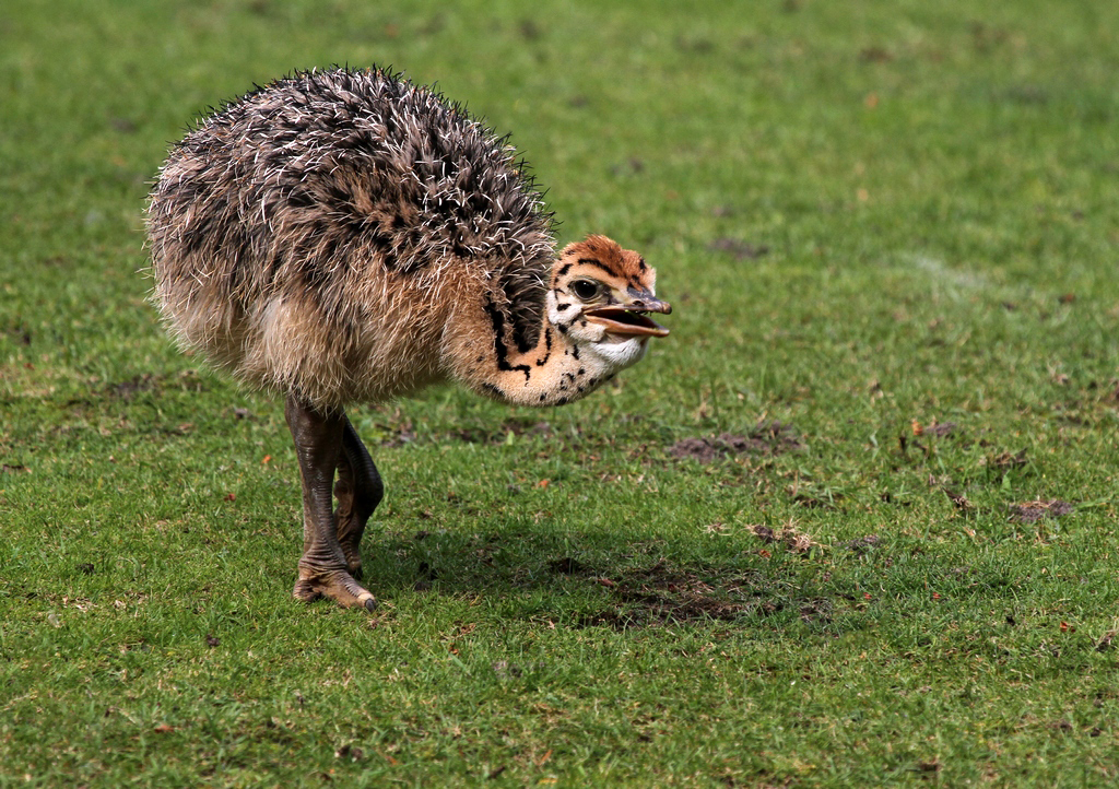
{"label": "spiky dark brown and white-tipped feathers on the chick's rounded body", "polygon": [[[378,69],[298,73],[204,120],[163,165],[148,229],[157,301],[185,345],[258,386],[317,377],[305,394],[325,405],[394,393],[363,391],[338,365],[301,375],[254,359],[265,332],[294,347],[284,337],[313,323],[358,359],[369,349],[355,327],[461,267],[454,278],[495,288],[527,348],[554,256],[551,214],[507,140]],[[378,334],[421,340],[424,322]],[[427,361],[401,383],[434,376]]]}

